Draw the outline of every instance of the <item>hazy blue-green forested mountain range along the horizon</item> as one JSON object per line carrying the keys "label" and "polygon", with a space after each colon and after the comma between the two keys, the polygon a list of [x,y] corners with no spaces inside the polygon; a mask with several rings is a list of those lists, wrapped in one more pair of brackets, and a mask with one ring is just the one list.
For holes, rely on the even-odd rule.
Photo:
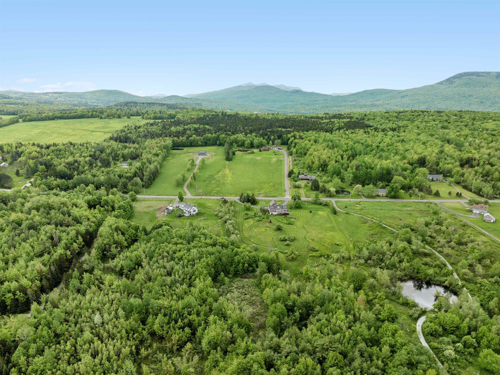
{"label": "hazy blue-green forested mountain range along the horizon", "polygon": [[354,93],[322,94],[282,84],[248,82],[184,96],[137,96],[119,90],[45,93],[0,91],[0,100],[0,104],[6,104],[9,100],[22,100],[27,103],[65,103],[79,106],[109,105],[121,101],[151,101],[226,110],[283,113],[393,109],[500,111],[500,72],[468,71],[421,87],[404,90],[376,88]]}

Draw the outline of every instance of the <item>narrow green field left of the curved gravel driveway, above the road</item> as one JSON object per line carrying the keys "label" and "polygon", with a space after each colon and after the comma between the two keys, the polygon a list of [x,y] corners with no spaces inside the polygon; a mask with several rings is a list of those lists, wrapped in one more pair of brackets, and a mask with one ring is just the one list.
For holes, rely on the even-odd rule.
{"label": "narrow green field left of the curved gravel driveway, above the road", "polygon": [[[199,149],[199,147],[184,147],[182,150],[170,150],[168,156],[161,163],[156,179],[146,188],[145,193],[147,195],[177,195],[194,169],[195,164],[188,168],[187,163],[193,157],[198,158],[197,152]],[[181,172],[185,173],[185,177],[182,183],[176,185],[175,178]],[[191,191],[191,193],[194,194],[195,191]]]}

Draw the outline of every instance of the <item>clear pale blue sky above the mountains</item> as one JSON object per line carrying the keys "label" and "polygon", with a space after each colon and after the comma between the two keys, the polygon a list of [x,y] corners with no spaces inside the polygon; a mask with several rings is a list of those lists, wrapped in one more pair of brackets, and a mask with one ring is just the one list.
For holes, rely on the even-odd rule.
{"label": "clear pale blue sky above the mountains", "polygon": [[0,87],[331,93],[500,70],[500,1],[0,1]]}

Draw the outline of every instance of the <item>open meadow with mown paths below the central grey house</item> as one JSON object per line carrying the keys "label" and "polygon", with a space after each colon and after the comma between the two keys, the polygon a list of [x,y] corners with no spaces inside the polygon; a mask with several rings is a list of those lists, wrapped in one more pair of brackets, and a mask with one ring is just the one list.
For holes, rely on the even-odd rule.
{"label": "open meadow with mown paths below the central grey house", "polygon": [[[300,272],[304,264],[315,263],[322,256],[350,253],[354,241],[364,242],[391,235],[388,229],[372,221],[341,212],[333,215],[325,206],[304,204],[303,208],[289,211],[292,224],[286,223],[283,216],[270,216],[269,222],[265,218],[244,218],[244,211],[238,211],[237,225],[244,243],[254,244],[260,250],[275,248],[284,254],[296,251],[296,258],[288,259],[284,265],[294,274]],[[277,224],[283,229],[276,230]],[[295,239],[289,245],[279,240],[281,236],[290,235]]]}

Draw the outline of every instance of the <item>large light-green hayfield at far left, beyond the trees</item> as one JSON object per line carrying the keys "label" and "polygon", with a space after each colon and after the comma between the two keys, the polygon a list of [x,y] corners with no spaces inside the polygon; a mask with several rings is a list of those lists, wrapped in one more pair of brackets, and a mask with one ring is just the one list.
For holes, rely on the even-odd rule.
{"label": "large light-green hayfield at far left, beyond the trees", "polygon": [[75,118],[68,120],[18,122],[0,127],[0,143],[9,142],[100,142],[126,124],[142,123],[131,118]]}

